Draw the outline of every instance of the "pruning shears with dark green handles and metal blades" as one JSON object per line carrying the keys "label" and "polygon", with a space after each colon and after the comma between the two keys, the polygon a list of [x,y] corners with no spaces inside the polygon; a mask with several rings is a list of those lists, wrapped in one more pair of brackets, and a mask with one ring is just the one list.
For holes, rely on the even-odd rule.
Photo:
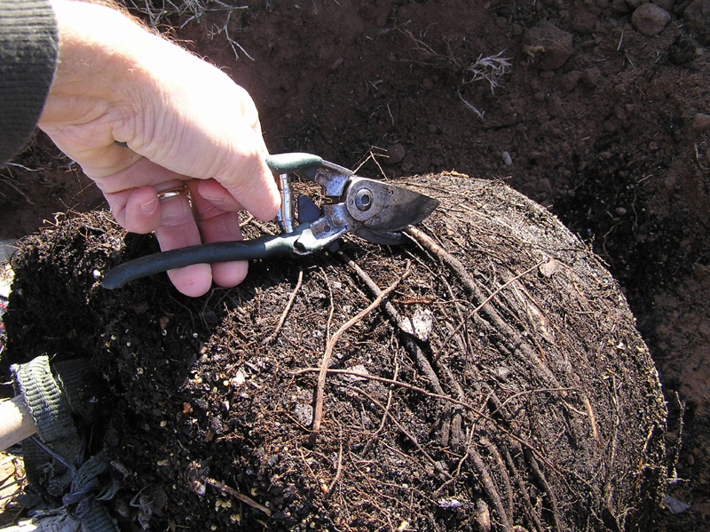
{"label": "pruning shears with dark green handles and metal blades", "polygon": [[[102,286],[113,290],[141,277],[192,264],[309,255],[329,247],[345,233],[356,234],[368,242],[399,244],[405,240],[401,232],[406,226],[421,222],[438,206],[438,201],[429,196],[360,178],[318,155],[269,155],[266,163],[280,189],[277,220],[281,234],[200,244],[136,258],[109,271]],[[307,195],[298,195],[296,199],[292,174],[318,183],[326,202],[318,207]]]}

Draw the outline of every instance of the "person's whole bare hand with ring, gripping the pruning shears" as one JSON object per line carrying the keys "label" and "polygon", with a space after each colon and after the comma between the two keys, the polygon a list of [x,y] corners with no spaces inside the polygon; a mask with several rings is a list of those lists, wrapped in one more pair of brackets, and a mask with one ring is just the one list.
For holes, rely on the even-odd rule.
{"label": "person's whole bare hand with ring, gripping the pruning shears", "polygon": [[[124,228],[154,231],[171,250],[241,240],[239,210],[276,215],[280,195],[247,91],[120,12],[73,0],[52,5],[59,67],[39,126],[96,182]],[[185,195],[159,201],[182,183],[192,206]],[[246,274],[246,262],[169,272],[188,296]]]}

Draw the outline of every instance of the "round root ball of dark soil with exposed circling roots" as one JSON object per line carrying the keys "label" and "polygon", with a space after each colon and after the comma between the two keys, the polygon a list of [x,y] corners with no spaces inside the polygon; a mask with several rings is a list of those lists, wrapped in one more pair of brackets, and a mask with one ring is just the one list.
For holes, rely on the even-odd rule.
{"label": "round root ball of dark soil with exposed circling roots", "polygon": [[[102,288],[155,245],[106,214],[23,242],[4,361],[89,357],[104,390],[92,450],[112,461],[106,505],[126,529],[649,527],[673,452],[618,284],[509,187],[406,185],[442,200],[412,242],[264,260],[205,298],[164,274]],[[392,286],[389,306],[366,311],[371,286]]]}

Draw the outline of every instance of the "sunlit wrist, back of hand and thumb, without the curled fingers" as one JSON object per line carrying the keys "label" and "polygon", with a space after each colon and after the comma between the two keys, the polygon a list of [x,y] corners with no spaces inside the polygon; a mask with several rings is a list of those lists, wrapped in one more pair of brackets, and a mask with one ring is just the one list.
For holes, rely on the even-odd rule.
{"label": "sunlit wrist, back of hand and thumb, without the curled fingers", "polygon": [[[181,176],[216,179],[256,218],[276,215],[280,196],[247,91],[112,10],[57,4],[61,61],[40,125],[91,179],[104,181],[102,190],[153,185],[107,182],[130,177],[125,170],[146,164],[142,155]],[[104,23],[84,28],[86,20]]]}

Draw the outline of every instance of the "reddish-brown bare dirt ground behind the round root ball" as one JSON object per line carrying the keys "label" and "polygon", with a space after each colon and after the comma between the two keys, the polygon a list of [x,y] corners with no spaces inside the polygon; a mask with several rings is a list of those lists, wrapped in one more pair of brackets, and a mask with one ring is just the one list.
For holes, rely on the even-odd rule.
{"label": "reddish-brown bare dirt ground behind the round root ball", "polygon": [[[669,401],[677,392],[685,405],[671,495],[692,508],[659,527],[707,528],[706,2],[659,1],[669,16],[656,10],[650,22],[629,6],[637,3],[618,0],[245,4],[226,28],[253,60],[218,32],[224,10],[172,33],[250,91],[272,152],[310,151],[350,167],[389,155],[378,157],[388,176],[455,169],[505,179],[591,242],[626,292]],[[180,26],[191,15],[160,22]],[[652,33],[654,21],[655,35],[637,29]],[[469,66],[500,52],[511,67],[494,90],[471,81]],[[33,157],[16,162],[48,170],[11,169],[13,187],[36,205],[3,183],[19,206],[4,203],[3,236],[33,231],[64,205],[93,205],[77,196],[82,181],[66,161]],[[362,172],[380,169],[370,161]],[[53,184],[66,183],[76,185],[58,195]]]}

